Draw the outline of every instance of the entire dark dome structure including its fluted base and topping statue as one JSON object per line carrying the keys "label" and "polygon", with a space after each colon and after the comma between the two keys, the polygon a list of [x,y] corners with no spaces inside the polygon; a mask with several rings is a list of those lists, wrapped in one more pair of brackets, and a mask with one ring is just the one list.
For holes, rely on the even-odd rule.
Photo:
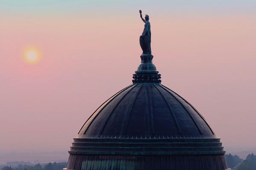
{"label": "entire dark dome structure including its fluted base and topping statue", "polygon": [[150,23],[142,20],[143,54],[132,84],[87,119],[65,169],[227,170],[224,147],[204,117],[161,84],[152,62]]}

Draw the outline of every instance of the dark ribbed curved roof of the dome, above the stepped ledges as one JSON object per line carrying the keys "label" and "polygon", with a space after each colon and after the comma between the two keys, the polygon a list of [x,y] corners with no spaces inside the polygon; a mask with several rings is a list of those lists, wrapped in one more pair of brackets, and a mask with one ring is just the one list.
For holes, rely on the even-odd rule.
{"label": "dark ribbed curved roof of the dome, above the stepped ledges", "polygon": [[78,138],[216,138],[204,117],[157,83],[130,85],[103,103]]}

